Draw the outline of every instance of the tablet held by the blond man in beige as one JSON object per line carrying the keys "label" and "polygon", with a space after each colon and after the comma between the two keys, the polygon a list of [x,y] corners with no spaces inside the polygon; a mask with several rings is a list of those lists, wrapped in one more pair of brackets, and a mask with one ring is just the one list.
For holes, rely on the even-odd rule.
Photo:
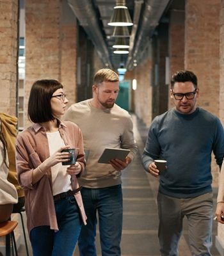
{"label": "tablet held by the blond man in beige", "polygon": [[105,148],[102,156],[100,156],[98,163],[108,164],[111,159],[122,159],[129,154],[129,149],[124,148]]}

